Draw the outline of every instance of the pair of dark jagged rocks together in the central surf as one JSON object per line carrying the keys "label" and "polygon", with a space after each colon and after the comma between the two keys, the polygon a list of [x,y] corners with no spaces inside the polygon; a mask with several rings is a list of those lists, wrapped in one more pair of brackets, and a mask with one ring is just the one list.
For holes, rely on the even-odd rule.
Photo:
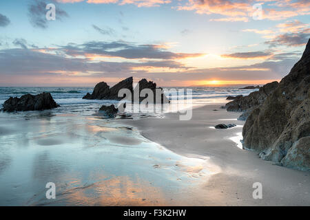
{"label": "pair of dark jagged rocks together in the central surf", "polygon": [[[157,88],[156,83],[153,83],[152,81],[147,81],[145,78],[140,80],[138,82],[139,85],[139,91],[137,91],[137,88],[135,88],[135,91],[138,92],[138,94],[141,94],[141,91],[143,89],[151,89],[154,94],[154,103],[156,103],[156,90],[159,90],[161,94],[161,103],[169,103],[168,98],[163,94],[163,89]],[[133,78],[126,78],[125,80],[121,81],[120,83],[117,83],[114,85],[114,87],[110,88],[107,83],[101,82],[94,87],[94,91],[92,94],[87,93],[86,96],[83,97],[83,99],[100,99],[100,100],[122,100],[123,97],[118,97],[118,91],[121,89],[129,89],[132,92],[132,102],[134,102],[134,89],[133,89]],[[142,102],[145,97],[139,97],[138,102]]]}

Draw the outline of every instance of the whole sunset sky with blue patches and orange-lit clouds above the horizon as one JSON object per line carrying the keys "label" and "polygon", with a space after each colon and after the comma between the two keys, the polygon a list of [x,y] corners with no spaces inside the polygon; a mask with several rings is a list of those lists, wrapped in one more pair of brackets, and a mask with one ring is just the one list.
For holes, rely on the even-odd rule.
{"label": "whole sunset sky with blue patches and orange-lit clouds above the horizon", "polygon": [[306,0],[1,0],[0,86],[263,85],[300,59],[309,21]]}

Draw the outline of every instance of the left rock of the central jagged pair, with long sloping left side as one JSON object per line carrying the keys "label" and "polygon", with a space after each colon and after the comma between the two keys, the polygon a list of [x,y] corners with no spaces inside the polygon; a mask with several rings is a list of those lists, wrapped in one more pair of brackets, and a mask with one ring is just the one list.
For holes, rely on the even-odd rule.
{"label": "left rock of the central jagged pair, with long sloping left side", "polygon": [[132,89],[133,78],[126,78],[125,80],[121,81],[114,85],[114,87],[110,88],[107,83],[101,82],[94,87],[94,91],[92,94],[87,93],[83,99],[105,99],[105,100],[122,100],[123,97],[118,97],[118,91],[121,89],[129,89],[131,92]]}

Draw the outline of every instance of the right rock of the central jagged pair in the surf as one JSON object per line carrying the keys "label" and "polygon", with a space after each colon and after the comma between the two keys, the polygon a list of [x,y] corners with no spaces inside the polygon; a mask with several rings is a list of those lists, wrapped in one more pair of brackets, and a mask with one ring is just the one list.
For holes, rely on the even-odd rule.
{"label": "right rock of the central jagged pair in the surf", "polygon": [[[161,98],[159,100],[159,103],[164,104],[164,103],[169,103],[168,98],[165,96],[165,94],[163,94],[163,89],[161,87],[157,88],[156,87],[156,83],[153,83],[152,81],[147,81],[145,78],[143,78],[142,80],[140,80],[138,82],[138,87],[135,88],[135,90],[139,88],[139,94],[141,94],[141,91],[143,89],[151,89],[153,91],[154,94],[154,104],[158,103],[156,102],[156,90],[161,94]],[[139,102],[142,102],[146,97],[140,97],[139,98]]]}

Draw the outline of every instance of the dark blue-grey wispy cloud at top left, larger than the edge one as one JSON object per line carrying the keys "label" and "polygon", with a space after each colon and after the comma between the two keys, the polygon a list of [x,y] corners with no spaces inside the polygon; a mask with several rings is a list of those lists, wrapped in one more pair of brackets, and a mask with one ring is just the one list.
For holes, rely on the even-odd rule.
{"label": "dark blue-grey wispy cloud at top left, larger than the edge one", "polygon": [[[56,5],[56,20],[61,21],[63,17],[68,17],[67,12],[62,10],[59,5],[56,4],[56,0],[51,1]],[[51,1],[33,0],[30,5],[28,5],[28,17],[34,28],[48,28],[48,20],[45,17],[45,14],[48,12],[48,10],[46,10],[45,7],[48,5],[48,3],[51,3]]]}

